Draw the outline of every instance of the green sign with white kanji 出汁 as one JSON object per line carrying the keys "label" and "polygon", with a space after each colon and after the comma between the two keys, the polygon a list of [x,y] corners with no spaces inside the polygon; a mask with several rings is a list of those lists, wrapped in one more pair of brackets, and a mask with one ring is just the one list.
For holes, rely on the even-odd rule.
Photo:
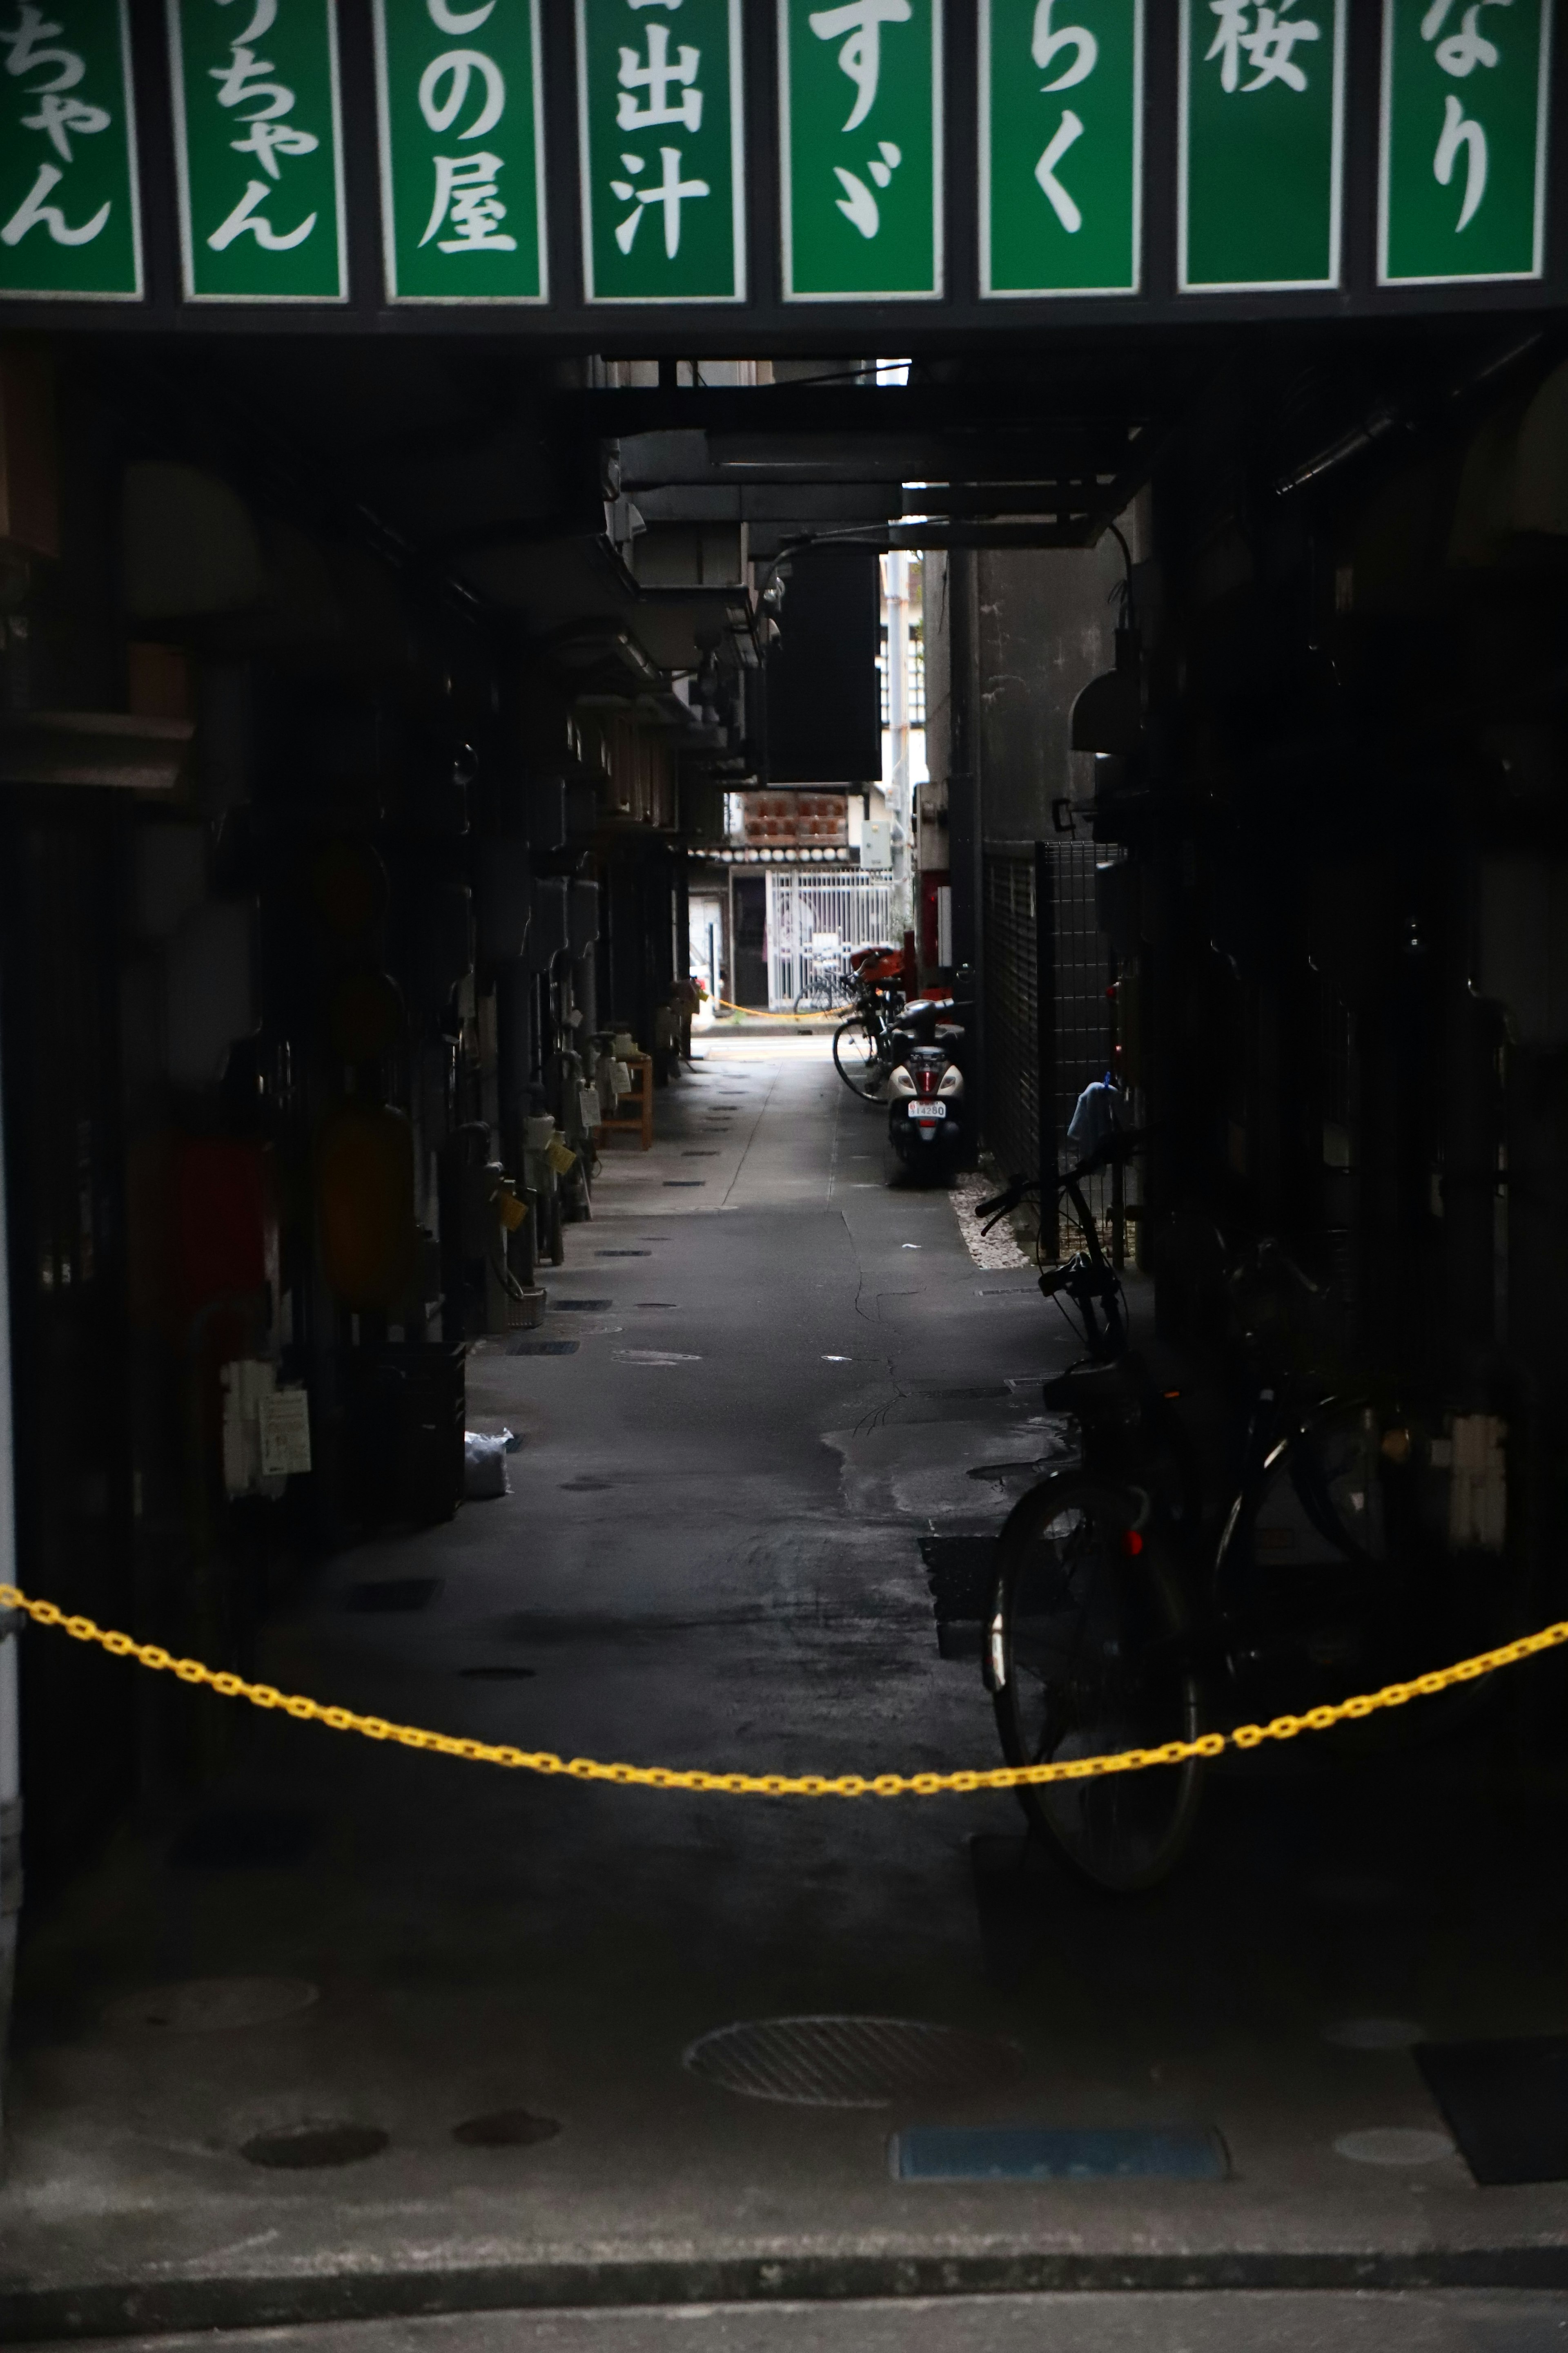
{"label": "green sign with white kanji \u51fa\u6c41", "polygon": [[583,294],[745,301],[741,0],[576,0]]}

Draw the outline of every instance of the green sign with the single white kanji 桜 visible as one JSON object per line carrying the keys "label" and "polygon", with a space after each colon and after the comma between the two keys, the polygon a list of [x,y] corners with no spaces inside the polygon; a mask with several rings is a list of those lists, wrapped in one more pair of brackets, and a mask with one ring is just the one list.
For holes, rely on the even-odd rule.
{"label": "green sign with the single white kanji \u685c visible", "polygon": [[1338,287],[1347,0],[1182,0],[1182,294]]}

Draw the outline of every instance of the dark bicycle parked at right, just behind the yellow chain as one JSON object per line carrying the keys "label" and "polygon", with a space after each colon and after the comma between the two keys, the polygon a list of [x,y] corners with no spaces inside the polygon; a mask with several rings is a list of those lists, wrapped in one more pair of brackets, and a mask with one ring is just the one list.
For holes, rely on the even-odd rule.
{"label": "dark bicycle parked at right, just behind the yellow chain", "polygon": [[[1436,1417],[1375,1388],[1335,1393],[1293,1365],[1281,1292],[1319,1285],[1274,1240],[1229,1257],[1232,1426],[1218,1520],[1206,1520],[1178,1391],[1128,1346],[1126,1299],[1081,1181],[1138,1148],[1114,1136],[1053,1179],[1084,1249],[1041,1273],[1079,1313],[1088,1360],[1044,1386],[1081,1461],[1009,1515],[985,1680],[1009,1765],[1190,1741],[1220,1715],[1293,1711],[1497,1640],[1502,1579],[1465,1574],[1443,1541]],[[980,1202],[1004,1217],[1039,1186]],[[1476,1614],[1490,1617],[1474,1640]],[[1469,1697],[1469,1694],[1467,1694]],[[1023,1788],[1034,1831],[1095,1887],[1133,1894],[1182,1857],[1201,1765]]]}

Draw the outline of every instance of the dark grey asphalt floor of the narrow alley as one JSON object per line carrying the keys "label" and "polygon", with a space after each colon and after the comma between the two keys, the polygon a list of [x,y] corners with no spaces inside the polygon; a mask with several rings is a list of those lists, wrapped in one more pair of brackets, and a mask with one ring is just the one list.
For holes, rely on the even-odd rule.
{"label": "dark grey asphalt floor of the narrow alley", "polygon": [[[999,1525],[1009,1466],[1060,1454],[1039,1379],[1070,1344],[1030,1271],[976,1266],[940,1188],[889,1184],[825,1038],[712,1040],[656,1148],[618,1146],[527,1334],[569,1353],[470,1360],[470,1426],[522,1435],[512,1492],[329,1562],[266,1678],[567,1755],[992,1762],[922,1537]],[[1563,2287],[1568,2191],[1479,2188],[1408,2052],[1568,2031],[1563,1791],[1514,1746],[1533,1673],[1460,1746],[1227,1762],[1180,1875],[1121,1904],[1004,1795],[576,1786],[247,1711],[200,1809],[26,1915],[0,2341]],[[783,2017],[961,2028],[973,2068],[846,2108],[684,2064]],[[893,2134],[964,2122],[1197,2127],[1225,2179],[893,2179]],[[299,2127],[355,2160],[256,2162]]]}

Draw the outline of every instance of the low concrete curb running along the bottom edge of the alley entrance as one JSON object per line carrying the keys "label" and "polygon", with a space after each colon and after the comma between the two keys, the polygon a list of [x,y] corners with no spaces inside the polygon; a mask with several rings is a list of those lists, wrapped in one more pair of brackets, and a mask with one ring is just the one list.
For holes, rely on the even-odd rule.
{"label": "low concrete curb running along the bottom edge of the alley entrance", "polygon": [[1568,2287],[1568,2240],[1418,2254],[846,2254],[310,2271],[294,2278],[0,2280],[0,2344],[310,2327],[442,2313],[609,2311],[682,2304],[853,2304],[1147,2289]]}

